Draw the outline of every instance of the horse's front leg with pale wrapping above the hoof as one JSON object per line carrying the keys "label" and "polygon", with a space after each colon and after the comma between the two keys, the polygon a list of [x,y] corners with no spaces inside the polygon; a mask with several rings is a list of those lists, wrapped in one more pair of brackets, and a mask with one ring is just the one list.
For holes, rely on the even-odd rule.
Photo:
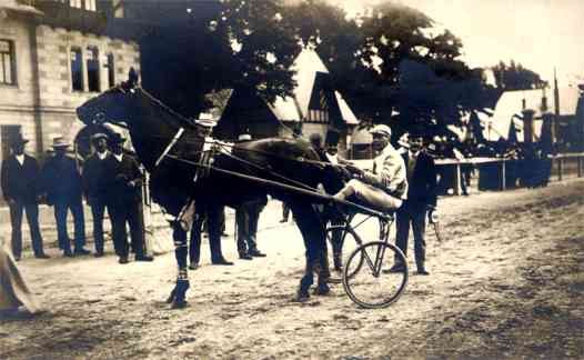
{"label": "horse's front leg with pale wrapping above the hoof", "polygon": [[189,272],[187,270],[187,231],[182,229],[178,221],[173,221],[171,227],[179,274],[177,277],[177,284],[174,286],[174,289],[172,289],[167,302],[172,303],[173,309],[181,309],[187,307],[187,290],[190,288]]}

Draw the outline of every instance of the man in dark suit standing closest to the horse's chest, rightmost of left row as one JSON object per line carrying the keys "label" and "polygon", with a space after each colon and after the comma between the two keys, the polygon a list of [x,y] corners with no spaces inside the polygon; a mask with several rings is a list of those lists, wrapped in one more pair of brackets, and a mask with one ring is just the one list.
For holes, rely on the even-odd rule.
{"label": "man in dark suit standing closest to the horse's chest, rightmost of left row", "polygon": [[142,211],[142,173],[138,162],[123,153],[122,144],[125,139],[115,133],[110,140],[112,153],[108,157],[104,177],[115,253],[120,257],[120,263],[128,263],[130,251],[125,231],[125,223],[128,223],[135,261],[152,261],[153,258],[144,253],[144,223],[140,213]]}

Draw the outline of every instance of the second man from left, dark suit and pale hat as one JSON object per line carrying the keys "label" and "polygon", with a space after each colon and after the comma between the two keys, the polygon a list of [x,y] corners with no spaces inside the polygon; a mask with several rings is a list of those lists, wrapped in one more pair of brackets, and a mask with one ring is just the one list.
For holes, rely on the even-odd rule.
{"label": "second man from left, dark suit and pale hat", "polygon": [[[82,203],[81,174],[75,160],[66,154],[69,143],[62,138],[53,139],[54,156],[42,168],[42,189],[47,192],[47,201],[54,206],[57,234],[63,256],[88,254],[85,244],[85,219]],[[67,231],[67,214],[71,210],[74,226],[74,253],[71,252],[71,240]]]}

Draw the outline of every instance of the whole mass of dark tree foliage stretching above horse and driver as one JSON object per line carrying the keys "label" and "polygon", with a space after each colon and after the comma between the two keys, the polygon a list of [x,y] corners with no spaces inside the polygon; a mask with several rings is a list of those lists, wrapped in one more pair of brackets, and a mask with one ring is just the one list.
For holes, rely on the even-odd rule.
{"label": "whole mass of dark tree foliage stretching above horse and driver", "polygon": [[175,0],[179,10],[164,18],[169,2],[152,3],[152,30],[141,41],[144,84],[187,114],[208,108],[204,94],[221,89],[245,88],[269,101],[291,94],[301,46],[315,48],[361,119],[389,122],[397,110],[404,129],[414,120],[445,128],[491,102],[482,72],[460,59],[461,40],[433,33],[432,19],[402,4],[349,19],[326,0]]}

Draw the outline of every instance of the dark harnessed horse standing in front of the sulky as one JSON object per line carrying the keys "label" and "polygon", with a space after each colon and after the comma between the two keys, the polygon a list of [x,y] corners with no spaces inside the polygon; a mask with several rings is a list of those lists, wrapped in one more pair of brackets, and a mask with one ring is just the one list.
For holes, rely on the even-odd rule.
{"label": "dark harnessed horse standing in front of the sulky", "polygon": [[[137,156],[151,174],[152,199],[175,218],[171,227],[179,277],[169,299],[174,307],[185,304],[189,288],[187,232],[178,217],[191,200],[194,200],[195,206],[238,207],[269,193],[286,202],[294,213],[306,249],[306,268],[300,281],[298,300],[309,298],[314,272],[319,276],[315,292],[329,292],[324,224],[313,207],[315,201],[326,201],[326,197],[299,196],[295,191],[278,186],[283,183],[314,189],[318,183],[324,183],[325,189],[332,192],[342,184],[339,173],[319,162],[318,153],[306,141],[271,138],[229,146],[232,148],[231,153],[212,151],[212,168],[205,168],[199,162],[204,139],[197,130],[198,124],[173,112],[131,82],[117,86],[87,101],[77,109],[77,113],[85,124],[110,122],[128,128]],[[157,166],[157,160],[168,150],[180,129],[184,129],[182,136]],[[209,158],[209,152],[205,157]],[[272,182],[261,183],[215,168]],[[220,241],[219,224],[210,223],[209,227],[212,240]]]}

